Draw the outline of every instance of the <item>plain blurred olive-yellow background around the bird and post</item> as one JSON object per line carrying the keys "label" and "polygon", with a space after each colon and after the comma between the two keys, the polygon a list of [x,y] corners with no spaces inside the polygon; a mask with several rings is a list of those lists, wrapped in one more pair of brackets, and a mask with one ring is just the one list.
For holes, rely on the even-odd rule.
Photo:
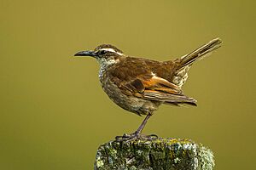
{"label": "plain blurred olive-yellow background around the bird and post", "polygon": [[255,169],[254,1],[0,2],[0,169],[92,169],[97,147],[143,117],[102,91],[98,64],[74,58],[111,43],[125,54],[176,59],[212,38],[183,87],[198,107],[162,105],[144,133],[210,147],[215,169]]}

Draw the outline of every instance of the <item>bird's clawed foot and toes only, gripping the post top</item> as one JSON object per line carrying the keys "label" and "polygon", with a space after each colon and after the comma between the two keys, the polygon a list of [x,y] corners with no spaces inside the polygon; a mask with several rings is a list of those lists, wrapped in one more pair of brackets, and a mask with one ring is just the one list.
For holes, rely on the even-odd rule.
{"label": "bird's clawed foot and toes only, gripping the post top", "polygon": [[154,139],[158,139],[158,136],[156,134],[143,135],[142,133],[135,132],[131,134],[125,133],[123,136],[115,137],[115,140],[118,142],[129,142],[131,140],[136,140],[136,139],[154,140]]}

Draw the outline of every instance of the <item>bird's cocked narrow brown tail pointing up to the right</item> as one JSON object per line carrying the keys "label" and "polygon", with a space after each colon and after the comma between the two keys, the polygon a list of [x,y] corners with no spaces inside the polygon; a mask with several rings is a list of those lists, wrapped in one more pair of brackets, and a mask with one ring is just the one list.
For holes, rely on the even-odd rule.
{"label": "bird's cocked narrow brown tail pointing up to the right", "polygon": [[201,46],[200,48],[195,49],[190,54],[186,54],[181,58],[180,68],[182,69],[184,66],[192,65],[195,60],[200,60],[206,57],[208,54],[211,54],[217,48],[220,48],[222,41],[219,38],[213,39],[207,44]]}

